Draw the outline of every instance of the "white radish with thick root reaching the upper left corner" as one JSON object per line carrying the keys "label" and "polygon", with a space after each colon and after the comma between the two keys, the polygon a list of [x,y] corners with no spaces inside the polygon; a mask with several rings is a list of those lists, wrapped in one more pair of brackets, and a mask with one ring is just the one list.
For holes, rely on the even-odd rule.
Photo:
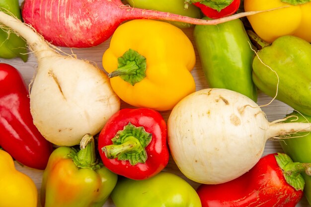
{"label": "white radish with thick root reaching the upper left corner", "polygon": [[88,62],[57,53],[32,28],[2,11],[0,23],[23,37],[37,58],[30,110],[39,132],[67,146],[78,144],[87,133],[100,132],[120,109],[107,75]]}

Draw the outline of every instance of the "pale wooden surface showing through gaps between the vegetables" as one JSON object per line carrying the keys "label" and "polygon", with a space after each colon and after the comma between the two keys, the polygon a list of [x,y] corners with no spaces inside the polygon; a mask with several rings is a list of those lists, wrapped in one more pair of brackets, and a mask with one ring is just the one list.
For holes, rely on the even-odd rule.
{"label": "pale wooden surface showing through gaps between the vegetables", "polygon": [[[186,35],[189,37],[189,39],[192,41],[195,47],[194,40],[193,40],[193,34],[192,34],[193,28],[183,29],[183,31],[186,33]],[[126,36],[124,38],[126,38]],[[102,43],[101,45],[97,47],[93,47],[93,48],[86,48],[86,49],[61,48],[61,50],[67,54],[74,53],[77,56],[77,58],[87,60],[93,64],[96,64],[100,69],[103,69],[102,64],[101,64],[101,58],[102,58],[104,51],[109,47],[109,43],[110,43],[110,39]],[[196,51],[196,48],[195,48],[195,51]],[[0,62],[10,64],[16,69],[18,69],[21,72],[26,84],[28,85],[34,76],[34,73],[37,67],[37,62],[36,62],[35,57],[33,57],[31,53],[29,54],[29,56],[30,56],[29,60],[26,63],[22,62],[20,59],[17,59],[17,58],[11,59],[11,60],[0,59]],[[200,58],[198,57],[197,51],[196,51],[196,58],[197,58],[197,62],[196,62],[195,68],[193,69],[191,73],[195,78],[196,90],[199,90],[199,89],[207,88],[208,84],[204,77],[204,74],[201,68]],[[265,94],[259,91],[258,102],[257,102],[259,106],[266,105],[267,103],[270,102],[270,100],[271,100],[270,97],[266,96]],[[121,108],[126,108],[126,107],[130,107],[130,106],[122,102]],[[284,118],[286,114],[292,112],[291,107],[277,100],[274,100],[268,106],[262,107],[262,110],[266,113],[268,121],[274,121],[277,119]],[[167,120],[169,113],[170,113],[169,111],[161,112],[165,120]],[[282,148],[277,140],[268,140],[266,143],[265,150],[264,150],[264,155],[268,153],[273,153],[273,152],[282,152]],[[29,175],[33,179],[33,181],[35,182],[38,188],[38,194],[40,194],[41,178],[42,178],[43,171],[21,166],[19,163],[16,163],[16,162],[15,162],[15,166],[17,170]],[[175,173],[181,176],[187,182],[189,182],[194,188],[197,188],[199,186],[198,183],[188,180],[185,176],[181,174],[181,172],[179,171],[178,167],[176,166],[176,164],[174,163],[171,157],[164,171],[169,171],[169,172],[172,172],[172,173]],[[38,198],[40,198],[40,196]],[[40,202],[38,202],[38,207],[41,207]],[[103,207],[114,207],[111,199],[109,199]],[[302,201],[297,205],[297,207],[309,207],[309,204],[306,201],[306,199],[303,198]]]}

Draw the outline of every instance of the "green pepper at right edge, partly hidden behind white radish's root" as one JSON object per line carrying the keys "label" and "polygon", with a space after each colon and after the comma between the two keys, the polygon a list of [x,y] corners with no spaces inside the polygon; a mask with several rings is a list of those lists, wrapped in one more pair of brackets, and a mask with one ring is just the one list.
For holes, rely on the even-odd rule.
{"label": "green pepper at right edge, partly hidden behind white radish's root", "polygon": [[[310,122],[311,116],[303,115],[298,112],[293,112],[286,116],[284,122]],[[307,119],[307,120],[306,120]],[[310,133],[295,133],[291,137],[296,138],[284,138],[280,140],[280,144],[286,154],[288,154],[294,162],[311,162],[311,134]],[[302,174],[306,185],[304,189],[305,197],[311,205],[311,177],[306,173]]]}

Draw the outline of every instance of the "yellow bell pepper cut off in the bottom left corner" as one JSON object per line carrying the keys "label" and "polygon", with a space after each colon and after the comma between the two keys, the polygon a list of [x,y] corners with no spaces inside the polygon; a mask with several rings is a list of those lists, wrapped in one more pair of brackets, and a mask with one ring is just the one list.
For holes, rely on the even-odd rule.
{"label": "yellow bell pepper cut off in the bottom left corner", "polygon": [[11,155],[0,149],[0,207],[37,207],[37,203],[34,182],[17,171]]}

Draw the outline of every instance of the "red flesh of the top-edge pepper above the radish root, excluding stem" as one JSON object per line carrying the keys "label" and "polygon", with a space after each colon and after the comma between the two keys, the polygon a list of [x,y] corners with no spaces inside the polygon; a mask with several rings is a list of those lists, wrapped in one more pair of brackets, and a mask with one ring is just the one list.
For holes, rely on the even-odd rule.
{"label": "red flesh of the top-edge pepper above the radish root, excluding stem", "polygon": [[221,17],[230,16],[234,14],[240,6],[240,0],[233,0],[230,5],[228,5],[227,7],[223,8],[220,11],[217,11],[216,9],[206,6],[200,2],[195,2],[193,4],[199,7],[205,16],[210,17],[212,19],[218,19]]}

